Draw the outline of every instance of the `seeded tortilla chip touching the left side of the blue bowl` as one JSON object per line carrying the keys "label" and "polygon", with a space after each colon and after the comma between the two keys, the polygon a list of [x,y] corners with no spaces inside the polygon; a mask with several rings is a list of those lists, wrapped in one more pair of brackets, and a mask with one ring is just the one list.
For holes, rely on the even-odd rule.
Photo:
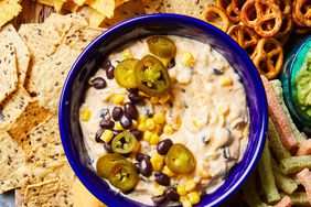
{"label": "seeded tortilla chip touching the left side of the blue bowl", "polygon": [[65,157],[56,115],[51,116],[47,120],[34,128],[30,134],[30,141],[31,152],[26,153],[26,156],[31,163],[49,160],[56,161]]}

